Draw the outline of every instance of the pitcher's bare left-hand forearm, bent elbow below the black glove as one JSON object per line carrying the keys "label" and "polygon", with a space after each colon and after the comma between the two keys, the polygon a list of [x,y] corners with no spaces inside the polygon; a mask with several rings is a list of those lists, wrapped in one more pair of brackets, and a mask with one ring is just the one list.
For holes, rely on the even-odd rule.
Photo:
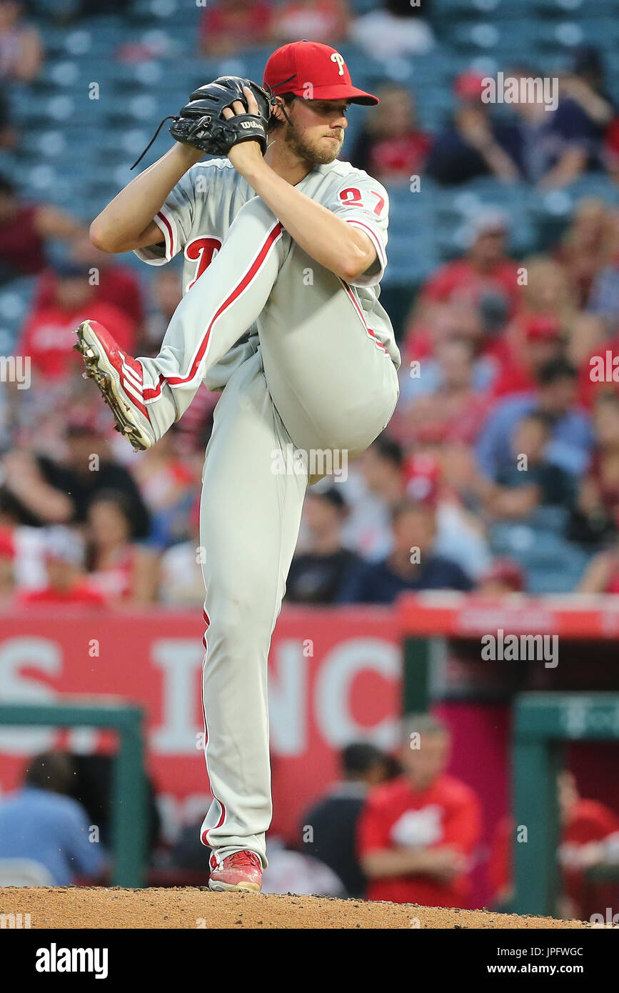
{"label": "pitcher's bare left-hand forearm, bent elbow below the black glove", "polygon": [[164,238],[153,217],[203,152],[176,142],[161,159],[136,176],[90,224],[90,240],[106,252],[133,251]]}

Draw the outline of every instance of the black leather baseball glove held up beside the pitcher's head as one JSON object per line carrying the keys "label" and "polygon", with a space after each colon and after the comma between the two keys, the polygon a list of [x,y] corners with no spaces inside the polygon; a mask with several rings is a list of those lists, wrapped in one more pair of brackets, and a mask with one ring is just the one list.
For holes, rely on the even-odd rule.
{"label": "black leather baseball glove held up beside the pitcher's head", "polygon": [[[225,107],[240,100],[247,108],[243,86],[248,86],[258,104],[258,114],[235,114],[226,119]],[[266,89],[238,75],[221,75],[213,82],[193,90],[170,133],[177,141],[205,152],[207,155],[227,155],[242,141],[258,141],[262,154],[267,150],[267,125],[271,118],[273,96]],[[232,108],[234,109],[234,108]]]}

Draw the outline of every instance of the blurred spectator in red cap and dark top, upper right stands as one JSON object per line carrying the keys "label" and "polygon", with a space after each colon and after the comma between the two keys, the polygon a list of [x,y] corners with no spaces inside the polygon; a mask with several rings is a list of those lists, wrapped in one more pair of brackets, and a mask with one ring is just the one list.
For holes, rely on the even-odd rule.
{"label": "blurred spectator in red cap and dark top, upper right stands", "polygon": [[514,158],[517,129],[492,120],[490,104],[481,99],[483,79],[481,73],[463,71],[454,80],[455,109],[428,158],[428,175],[445,186],[479,176],[495,176],[505,183],[519,179]]}

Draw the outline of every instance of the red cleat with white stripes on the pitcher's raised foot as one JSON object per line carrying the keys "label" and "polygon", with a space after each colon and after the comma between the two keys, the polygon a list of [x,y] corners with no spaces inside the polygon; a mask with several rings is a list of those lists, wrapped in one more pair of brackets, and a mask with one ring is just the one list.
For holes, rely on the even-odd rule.
{"label": "red cleat with white stripes on the pitcher's raised foot", "polygon": [[98,321],[82,321],[75,330],[85,375],[94,379],[114,415],[116,430],[124,434],[134,451],[152,448],[157,441],[144,403],[144,380],[140,362],[126,355]]}

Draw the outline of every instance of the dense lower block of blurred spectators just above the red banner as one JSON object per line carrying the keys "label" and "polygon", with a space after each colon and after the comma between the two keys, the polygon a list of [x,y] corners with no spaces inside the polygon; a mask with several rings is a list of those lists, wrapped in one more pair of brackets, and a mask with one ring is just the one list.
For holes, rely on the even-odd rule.
{"label": "dense lower block of blurred spectators just above the red banner", "polygon": [[[1,394],[0,602],[198,604],[196,500],[217,396],[203,389],[134,455],[71,350],[91,317],[130,354],[155,354],[181,298],[178,269],[158,271],[145,294],[78,221],[23,203],[6,180],[0,216],[0,264],[39,267],[15,349],[29,364]],[[49,267],[52,235],[67,252]],[[496,539],[524,525],[555,534],[559,553],[583,552],[573,589],[619,590],[619,394],[612,368],[593,374],[595,356],[617,348],[619,214],[585,198],[551,252],[521,260],[496,208],[469,235],[406,321],[387,431],[309,490],[291,602],[527,590],[526,565],[497,556]]]}

